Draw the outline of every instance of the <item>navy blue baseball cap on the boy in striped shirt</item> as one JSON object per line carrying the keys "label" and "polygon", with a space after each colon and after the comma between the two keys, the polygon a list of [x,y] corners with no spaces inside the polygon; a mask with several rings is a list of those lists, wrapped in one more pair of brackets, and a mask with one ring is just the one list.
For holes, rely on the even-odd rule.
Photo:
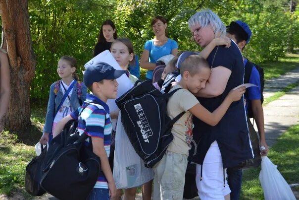
{"label": "navy blue baseball cap on the boy in striped shirt", "polygon": [[127,70],[116,70],[109,64],[100,62],[87,67],[84,72],[83,82],[89,87],[94,82],[99,82],[104,79],[116,79],[126,72]]}

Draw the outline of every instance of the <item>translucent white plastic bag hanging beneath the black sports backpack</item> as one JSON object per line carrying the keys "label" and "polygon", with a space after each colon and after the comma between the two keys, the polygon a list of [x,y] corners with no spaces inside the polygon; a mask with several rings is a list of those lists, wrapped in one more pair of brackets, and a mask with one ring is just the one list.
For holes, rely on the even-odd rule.
{"label": "translucent white plastic bag hanging beneath the black sports backpack", "polygon": [[125,133],[120,112],[115,133],[113,178],[117,189],[135,188],[153,179],[152,169],[144,166]]}

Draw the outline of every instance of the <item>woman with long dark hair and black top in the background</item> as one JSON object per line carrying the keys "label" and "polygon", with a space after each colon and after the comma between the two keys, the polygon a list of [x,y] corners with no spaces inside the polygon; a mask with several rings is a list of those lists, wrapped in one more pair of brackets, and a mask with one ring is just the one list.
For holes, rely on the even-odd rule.
{"label": "woman with long dark hair and black top in the background", "polygon": [[110,19],[105,20],[100,27],[98,43],[95,46],[94,56],[105,50],[110,50],[112,42],[117,38],[115,24]]}

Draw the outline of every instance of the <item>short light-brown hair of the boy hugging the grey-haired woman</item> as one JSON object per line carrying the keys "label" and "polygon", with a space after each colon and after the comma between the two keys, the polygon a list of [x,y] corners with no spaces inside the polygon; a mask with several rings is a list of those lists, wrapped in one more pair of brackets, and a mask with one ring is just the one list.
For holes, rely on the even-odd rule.
{"label": "short light-brown hair of the boy hugging the grey-haired woman", "polygon": [[208,62],[199,55],[191,55],[186,58],[180,67],[180,74],[183,76],[184,71],[189,71],[191,75],[199,72],[200,68],[206,67],[210,68]]}

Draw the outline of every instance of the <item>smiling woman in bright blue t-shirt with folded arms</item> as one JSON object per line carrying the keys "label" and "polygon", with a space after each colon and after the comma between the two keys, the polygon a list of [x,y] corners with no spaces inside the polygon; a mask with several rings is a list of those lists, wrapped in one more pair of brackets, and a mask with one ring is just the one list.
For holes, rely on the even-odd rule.
{"label": "smiling woman in bright blue t-shirt with folded arms", "polygon": [[164,17],[154,17],[151,20],[151,27],[155,37],[146,42],[140,59],[140,66],[148,69],[146,78],[150,80],[152,79],[152,71],[156,67],[155,63],[159,58],[169,54],[176,56],[178,53],[177,42],[166,36],[167,21]]}

